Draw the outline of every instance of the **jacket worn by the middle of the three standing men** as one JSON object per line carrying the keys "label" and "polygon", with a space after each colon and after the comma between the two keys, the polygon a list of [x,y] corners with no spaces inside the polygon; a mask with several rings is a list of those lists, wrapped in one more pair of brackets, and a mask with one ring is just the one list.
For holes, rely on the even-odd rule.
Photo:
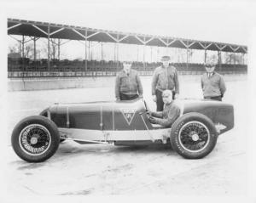
{"label": "jacket worn by the middle of the three standing men", "polygon": [[179,82],[177,78],[177,70],[174,66],[169,65],[165,68],[163,65],[154,70],[152,79],[152,95],[155,95],[155,90],[160,91],[171,89],[175,93],[179,93]]}

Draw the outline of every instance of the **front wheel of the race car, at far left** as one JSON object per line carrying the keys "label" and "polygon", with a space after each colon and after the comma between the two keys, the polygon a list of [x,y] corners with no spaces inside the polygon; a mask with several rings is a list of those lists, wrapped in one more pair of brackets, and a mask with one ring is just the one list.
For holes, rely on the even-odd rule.
{"label": "front wheel of the race car, at far left", "polygon": [[24,161],[42,162],[55,154],[60,135],[55,123],[48,118],[28,116],[15,126],[11,144]]}

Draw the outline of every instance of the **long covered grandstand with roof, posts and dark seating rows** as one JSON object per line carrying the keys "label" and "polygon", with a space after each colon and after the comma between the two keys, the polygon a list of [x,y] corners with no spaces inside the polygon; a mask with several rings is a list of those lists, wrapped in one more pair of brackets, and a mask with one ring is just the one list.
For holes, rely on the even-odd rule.
{"label": "long covered grandstand with roof, posts and dark seating rows", "polygon": [[[166,48],[185,48],[187,53],[189,49],[201,49],[205,51],[205,60],[207,50],[220,52],[247,54],[247,47],[236,44],[205,42],[191,39],[150,36],[137,33],[123,33],[119,31],[102,31],[86,27],[73,25],[56,25],[44,22],[14,20],[8,19],[8,34],[30,37],[44,37],[48,39],[48,59],[27,59],[24,55],[24,40],[22,41],[21,54],[10,54],[8,57],[8,76],[13,77],[51,77],[51,76],[114,76],[116,71],[121,69],[121,62],[116,60],[88,60],[86,52],[86,42],[114,42],[137,44],[143,46],[155,46]],[[85,56],[84,60],[60,60],[50,59],[49,57],[49,38],[61,38],[70,40],[84,40]],[[36,50],[36,49],[35,49]],[[36,53],[34,53],[36,54]],[[143,61],[134,61],[132,68],[140,71],[141,75],[151,75],[155,67],[160,63],[148,63]],[[187,57],[186,63],[173,63],[180,74],[201,74],[204,71],[204,64],[189,63]],[[246,73],[247,65],[244,64],[222,64],[218,59],[217,71],[222,73]]]}

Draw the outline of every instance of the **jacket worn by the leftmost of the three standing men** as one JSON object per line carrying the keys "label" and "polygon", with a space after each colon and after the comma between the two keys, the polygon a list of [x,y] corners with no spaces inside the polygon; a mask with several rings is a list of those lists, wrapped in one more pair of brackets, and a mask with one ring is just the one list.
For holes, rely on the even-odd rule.
{"label": "jacket worn by the leftmost of the three standing men", "polygon": [[119,93],[124,94],[139,94],[143,95],[143,85],[140,80],[140,77],[137,73],[137,70],[130,70],[130,73],[127,75],[124,70],[121,70],[115,80],[115,97],[120,98]]}

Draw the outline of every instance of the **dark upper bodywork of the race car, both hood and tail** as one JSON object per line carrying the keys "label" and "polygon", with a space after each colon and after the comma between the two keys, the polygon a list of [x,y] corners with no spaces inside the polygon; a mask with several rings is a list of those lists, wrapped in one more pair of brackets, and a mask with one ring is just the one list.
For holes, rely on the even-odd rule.
{"label": "dark upper bodywork of the race car, both hood and tail", "polygon": [[[215,127],[220,129],[218,133],[224,133],[234,127],[234,109],[231,104],[195,99],[178,99],[176,103],[182,107],[182,114],[198,112],[209,117]],[[99,131],[156,129],[148,121],[142,99],[123,102],[55,104],[48,110],[44,110],[41,115],[46,116],[46,112],[49,111],[50,119],[57,127]]]}

